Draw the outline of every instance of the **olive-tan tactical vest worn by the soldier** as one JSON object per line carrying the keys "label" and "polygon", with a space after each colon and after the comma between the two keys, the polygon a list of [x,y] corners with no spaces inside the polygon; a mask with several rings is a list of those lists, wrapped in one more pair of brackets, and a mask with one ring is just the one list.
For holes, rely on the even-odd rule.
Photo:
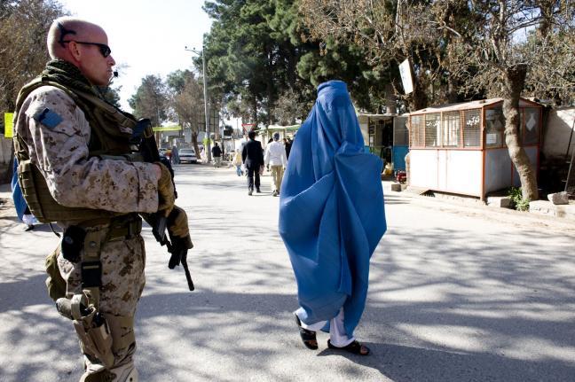
{"label": "olive-tan tactical vest worn by the soldier", "polygon": [[[106,159],[142,161],[130,146],[130,136],[137,121],[128,113],[122,113],[113,105],[94,94],[82,90],[70,89],[52,82],[47,77],[38,77],[20,90],[16,101],[14,121],[28,95],[42,86],[53,86],[66,92],[83,111],[90,124],[91,135],[88,144],[89,157]],[[40,170],[31,162],[28,147],[24,140],[14,135],[14,153],[18,159],[18,179],[22,195],[30,212],[39,222],[85,222],[89,220],[109,219],[120,213],[85,207],[65,207],[60,205],[50,193],[48,184]],[[70,190],[74,192],[74,190]]]}

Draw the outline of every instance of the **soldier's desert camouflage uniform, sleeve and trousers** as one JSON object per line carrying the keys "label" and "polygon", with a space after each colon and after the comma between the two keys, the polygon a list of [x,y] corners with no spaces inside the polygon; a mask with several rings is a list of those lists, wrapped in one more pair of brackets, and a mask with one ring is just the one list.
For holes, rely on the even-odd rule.
{"label": "soldier's desert camouflage uniform, sleeve and trousers", "polygon": [[[55,126],[35,120],[35,115],[46,108],[61,117]],[[154,164],[88,158],[91,127],[83,111],[63,90],[51,86],[34,90],[24,101],[15,122],[16,134],[26,143],[30,160],[39,168],[59,204],[119,213],[157,211],[158,179]],[[70,222],[58,223],[64,229],[70,225]],[[106,229],[106,225],[97,225],[86,231]],[[144,240],[138,234],[106,242],[101,247],[100,261],[99,311],[113,316],[134,316],[145,285]],[[59,254],[58,267],[67,282],[68,296],[81,292],[80,264]],[[130,363],[134,350],[135,343],[115,351],[114,367]],[[87,360],[87,364],[90,367],[92,363]]]}

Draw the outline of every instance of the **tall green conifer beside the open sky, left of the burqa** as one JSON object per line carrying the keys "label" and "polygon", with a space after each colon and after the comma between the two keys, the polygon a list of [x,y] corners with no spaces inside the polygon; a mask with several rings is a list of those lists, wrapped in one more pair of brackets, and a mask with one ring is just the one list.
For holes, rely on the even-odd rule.
{"label": "tall green conifer beside the open sky, left of the burqa", "polygon": [[225,103],[234,101],[232,110],[248,121],[269,123],[285,78],[280,47],[267,21],[273,1],[207,1],[204,10],[214,19],[204,48],[209,94],[221,94]]}

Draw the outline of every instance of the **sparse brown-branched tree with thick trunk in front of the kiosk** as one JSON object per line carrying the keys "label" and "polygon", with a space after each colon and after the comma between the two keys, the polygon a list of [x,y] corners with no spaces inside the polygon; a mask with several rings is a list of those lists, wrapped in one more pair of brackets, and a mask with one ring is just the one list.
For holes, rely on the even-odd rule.
{"label": "sparse brown-branched tree with thick trunk in front of the kiosk", "polygon": [[[465,28],[453,25],[461,9],[474,21]],[[574,12],[564,0],[452,0],[432,7],[429,22],[452,36],[444,66],[468,89],[483,88],[490,96],[503,97],[505,142],[524,199],[538,199],[538,189],[519,136],[519,97],[528,88],[573,98]],[[547,66],[551,62],[555,66]]]}

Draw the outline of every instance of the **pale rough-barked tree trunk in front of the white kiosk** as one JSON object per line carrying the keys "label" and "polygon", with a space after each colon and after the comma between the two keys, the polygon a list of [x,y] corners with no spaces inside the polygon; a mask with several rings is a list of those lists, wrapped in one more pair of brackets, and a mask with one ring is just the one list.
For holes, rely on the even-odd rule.
{"label": "pale rough-barked tree trunk in front of the white kiosk", "polygon": [[517,169],[521,180],[524,199],[537,200],[537,179],[531,161],[519,140],[519,97],[524,89],[527,66],[517,65],[508,68],[505,74],[506,95],[503,100],[505,115],[505,143],[509,157]]}

